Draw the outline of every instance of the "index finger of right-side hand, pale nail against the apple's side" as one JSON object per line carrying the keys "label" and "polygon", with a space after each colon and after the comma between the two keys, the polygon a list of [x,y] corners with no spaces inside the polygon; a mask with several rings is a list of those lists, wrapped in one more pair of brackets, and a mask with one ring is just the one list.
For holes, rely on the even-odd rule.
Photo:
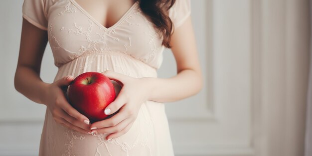
{"label": "index finger of right-side hand, pale nail against the apple's side", "polygon": [[104,114],[111,115],[117,112],[127,102],[127,98],[121,93],[104,110]]}

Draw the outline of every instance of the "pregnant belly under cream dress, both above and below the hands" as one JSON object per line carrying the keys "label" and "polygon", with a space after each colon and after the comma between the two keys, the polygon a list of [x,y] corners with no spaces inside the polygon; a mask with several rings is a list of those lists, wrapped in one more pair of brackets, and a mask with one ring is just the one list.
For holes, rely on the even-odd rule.
{"label": "pregnant belly under cream dress, both above and below the hands", "polygon": [[[116,53],[80,56],[59,67],[54,81],[66,75],[77,77],[84,72],[108,69],[136,78],[157,77],[155,68]],[[104,134],[88,135],[65,128],[55,123],[50,111],[44,127],[42,137],[48,140],[45,148],[52,156],[150,156],[156,153],[159,135],[168,134],[164,104],[154,101],[143,103],[131,129],[110,141],[105,141]]]}

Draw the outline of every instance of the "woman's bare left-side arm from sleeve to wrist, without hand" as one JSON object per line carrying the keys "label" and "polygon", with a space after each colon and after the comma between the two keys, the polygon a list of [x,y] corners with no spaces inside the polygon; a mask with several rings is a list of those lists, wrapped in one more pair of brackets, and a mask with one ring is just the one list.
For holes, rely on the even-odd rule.
{"label": "woman's bare left-side arm from sleeve to wrist, without hand", "polygon": [[39,77],[47,41],[47,31],[34,27],[23,18],[14,86],[18,92],[40,104],[43,104],[41,98],[47,86]]}

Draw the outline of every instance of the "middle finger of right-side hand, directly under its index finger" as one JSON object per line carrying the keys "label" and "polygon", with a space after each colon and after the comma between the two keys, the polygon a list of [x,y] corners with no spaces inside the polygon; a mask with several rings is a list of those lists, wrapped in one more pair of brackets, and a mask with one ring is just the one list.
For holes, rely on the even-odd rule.
{"label": "middle finger of right-side hand, directly under its index finger", "polygon": [[116,126],[117,124],[119,124],[120,122],[125,120],[126,118],[127,118],[127,114],[123,111],[120,111],[119,113],[117,113],[116,115],[114,115],[113,117],[111,117],[109,119],[105,119],[102,121],[92,123],[90,125],[90,128],[91,128],[90,130]]}

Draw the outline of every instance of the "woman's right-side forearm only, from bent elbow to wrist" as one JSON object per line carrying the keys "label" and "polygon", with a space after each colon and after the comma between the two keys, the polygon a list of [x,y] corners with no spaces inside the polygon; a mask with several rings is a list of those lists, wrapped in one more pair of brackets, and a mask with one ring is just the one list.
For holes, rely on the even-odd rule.
{"label": "woman's right-side forearm only, from bent elbow to wrist", "polygon": [[192,95],[202,89],[202,76],[191,69],[180,71],[171,78],[148,78],[152,85],[149,100],[156,102],[173,102]]}

